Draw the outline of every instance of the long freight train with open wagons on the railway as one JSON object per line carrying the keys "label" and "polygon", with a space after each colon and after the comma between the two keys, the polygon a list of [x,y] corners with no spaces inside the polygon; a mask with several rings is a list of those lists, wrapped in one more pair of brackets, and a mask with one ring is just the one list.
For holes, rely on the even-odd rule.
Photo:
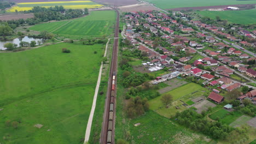
{"label": "long freight train with open wagons on the railway", "polygon": [[107,143],[112,143],[112,127],[113,127],[113,110],[114,110],[114,95],[115,95],[115,81],[117,77],[115,73],[112,75],[112,86],[110,93],[110,104],[109,104],[109,116],[108,116],[108,135],[107,135]]}

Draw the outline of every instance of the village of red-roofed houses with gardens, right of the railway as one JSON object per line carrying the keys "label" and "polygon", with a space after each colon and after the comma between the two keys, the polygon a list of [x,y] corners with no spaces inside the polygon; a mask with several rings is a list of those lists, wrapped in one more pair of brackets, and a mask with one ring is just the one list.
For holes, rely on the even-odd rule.
{"label": "village of red-roofed houses with gardens, right of the railway", "polygon": [[[155,77],[153,85],[174,77],[193,77],[196,83],[210,89],[207,98],[213,103],[225,100],[220,91],[246,87],[248,91],[236,95],[236,99],[241,104],[244,99],[256,104],[255,54],[241,47],[256,44],[237,39],[223,28],[189,21],[186,16],[180,12],[164,14],[152,10],[134,11],[124,16],[126,29],[122,35],[132,45],[131,51],[139,50],[147,57],[139,66],[144,73],[170,71]],[[256,31],[240,28],[239,33],[256,37]],[[232,105],[225,107],[230,109]]]}

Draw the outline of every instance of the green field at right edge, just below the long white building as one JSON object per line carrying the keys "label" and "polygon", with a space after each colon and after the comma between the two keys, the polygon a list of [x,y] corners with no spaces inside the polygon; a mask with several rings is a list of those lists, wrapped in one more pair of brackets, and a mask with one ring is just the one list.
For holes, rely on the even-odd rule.
{"label": "green field at right edge, just below the long white building", "polygon": [[238,11],[235,11],[235,10],[233,11],[197,11],[196,13],[202,16],[208,16],[212,19],[216,19],[216,16],[219,16],[221,20],[227,20],[230,23],[238,23],[238,24],[256,23],[256,9],[238,10]]}

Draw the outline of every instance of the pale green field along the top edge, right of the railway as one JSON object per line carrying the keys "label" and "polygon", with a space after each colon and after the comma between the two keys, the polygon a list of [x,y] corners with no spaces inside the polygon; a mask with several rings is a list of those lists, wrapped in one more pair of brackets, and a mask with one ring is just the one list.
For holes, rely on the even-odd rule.
{"label": "pale green field along the top edge, right of the railway", "polygon": [[183,7],[205,7],[215,5],[229,5],[229,4],[255,4],[255,1],[236,1],[236,0],[216,0],[216,1],[203,1],[203,0],[146,0],[147,2],[153,3],[156,7],[161,9],[172,9],[172,8],[183,8]]}

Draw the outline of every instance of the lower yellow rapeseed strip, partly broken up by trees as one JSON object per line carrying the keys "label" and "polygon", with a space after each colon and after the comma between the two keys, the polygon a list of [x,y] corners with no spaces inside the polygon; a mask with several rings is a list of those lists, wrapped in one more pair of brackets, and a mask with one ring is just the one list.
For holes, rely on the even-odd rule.
{"label": "lower yellow rapeseed strip, partly broken up by trees", "polygon": [[[88,9],[94,9],[94,8],[101,8],[103,5],[101,4],[88,4],[88,5],[63,5],[63,7],[65,9],[84,9],[84,8],[88,8]],[[51,6],[47,6],[44,8],[49,8]],[[11,7],[10,9],[7,10],[7,12],[15,12],[15,10],[18,11],[25,11],[25,10],[32,10],[33,7]]]}

